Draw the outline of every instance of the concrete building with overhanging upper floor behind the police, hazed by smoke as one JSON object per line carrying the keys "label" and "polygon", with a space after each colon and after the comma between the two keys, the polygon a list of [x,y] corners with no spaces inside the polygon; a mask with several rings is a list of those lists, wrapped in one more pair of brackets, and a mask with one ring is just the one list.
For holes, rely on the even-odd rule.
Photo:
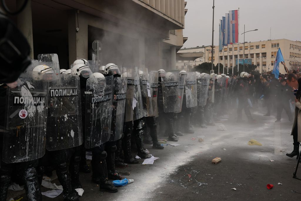
{"label": "concrete building with overhanging upper floor behind the police, hazed by smoke", "polygon": [[[14,11],[22,0],[6,1]],[[11,19],[26,36],[31,58],[57,53],[60,68],[92,59],[92,42],[102,42],[101,63],[174,69],[182,48],[184,0],[39,0],[28,1]],[[1,6],[0,6],[1,10]]]}

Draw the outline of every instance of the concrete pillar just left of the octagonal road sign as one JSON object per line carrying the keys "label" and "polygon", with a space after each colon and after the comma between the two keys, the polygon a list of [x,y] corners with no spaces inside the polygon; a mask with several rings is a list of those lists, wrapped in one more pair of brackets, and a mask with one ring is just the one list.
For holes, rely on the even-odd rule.
{"label": "concrete pillar just left of the octagonal road sign", "polygon": [[[79,13],[80,15],[80,13]],[[76,59],[88,59],[88,23],[85,14],[79,17],[79,31],[76,33],[77,11],[68,11],[69,65]]]}

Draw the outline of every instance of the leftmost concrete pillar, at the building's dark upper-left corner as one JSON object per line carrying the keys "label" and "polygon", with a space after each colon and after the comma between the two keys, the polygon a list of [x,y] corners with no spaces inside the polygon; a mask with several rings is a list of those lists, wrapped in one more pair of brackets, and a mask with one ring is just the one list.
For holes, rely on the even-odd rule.
{"label": "leftmost concrete pillar, at the building's dark upper-left corner", "polygon": [[[23,5],[24,0],[17,0],[17,10]],[[30,46],[30,58],[33,59],[33,20],[31,1],[27,2],[25,9],[17,15],[17,27],[23,33]]]}

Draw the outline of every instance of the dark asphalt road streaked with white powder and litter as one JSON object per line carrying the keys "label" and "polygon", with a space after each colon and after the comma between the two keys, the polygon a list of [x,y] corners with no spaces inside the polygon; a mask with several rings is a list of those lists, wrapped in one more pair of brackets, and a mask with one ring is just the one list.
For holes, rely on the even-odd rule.
{"label": "dark asphalt road streaked with white powder and litter", "polygon": [[[81,174],[85,190],[81,200],[300,200],[301,181],[292,178],[297,161],[285,155],[293,149],[292,123],[286,119],[274,123],[275,116],[264,117],[262,108],[251,112],[255,123],[248,123],[243,116],[243,122],[237,124],[236,111],[232,110],[216,125],[195,127],[194,134],[180,137],[177,143],[181,146],[157,150],[145,145],[160,159],[153,165],[141,165],[140,159],[137,165],[119,168],[121,173],[130,173],[125,177],[134,183],[119,187],[117,193],[99,191],[91,183],[91,174]],[[283,118],[287,118],[284,113]],[[227,130],[218,130],[221,124]],[[199,142],[202,135],[204,141]],[[248,145],[251,139],[262,146]],[[215,157],[222,161],[212,164]],[[301,168],[297,175],[301,177]],[[268,190],[267,184],[274,187]],[[10,191],[10,195],[16,192]],[[63,200],[62,194],[55,199],[43,198]]]}

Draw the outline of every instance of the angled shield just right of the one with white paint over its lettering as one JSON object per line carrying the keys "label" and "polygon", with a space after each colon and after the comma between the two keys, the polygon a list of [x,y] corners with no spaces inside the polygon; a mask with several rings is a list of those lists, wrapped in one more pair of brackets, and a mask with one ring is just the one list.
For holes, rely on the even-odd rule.
{"label": "angled shield just right of the one with white paint over its lettering", "polygon": [[119,140],[123,133],[127,77],[115,77],[113,82],[112,134],[110,141]]}

